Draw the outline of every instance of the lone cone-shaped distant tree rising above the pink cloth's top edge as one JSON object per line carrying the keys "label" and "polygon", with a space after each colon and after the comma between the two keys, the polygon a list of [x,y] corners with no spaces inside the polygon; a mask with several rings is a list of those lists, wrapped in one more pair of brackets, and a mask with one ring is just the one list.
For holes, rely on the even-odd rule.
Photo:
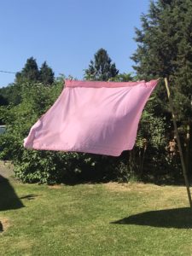
{"label": "lone cone-shaped distant tree rising above the pink cloth's top edge", "polygon": [[90,65],[85,69],[84,79],[96,81],[108,81],[114,78],[119,70],[108,56],[106,49],[99,49],[94,55],[94,61],[90,61]]}

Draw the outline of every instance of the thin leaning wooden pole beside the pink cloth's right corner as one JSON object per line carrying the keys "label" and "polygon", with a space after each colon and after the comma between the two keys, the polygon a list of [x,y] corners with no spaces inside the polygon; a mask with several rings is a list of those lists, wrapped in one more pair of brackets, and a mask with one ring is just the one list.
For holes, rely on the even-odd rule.
{"label": "thin leaning wooden pole beside the pink cloth's right corner", "polygon": [[180,159],[181,159],[181,164],[182,164],[182,169],[183,169],[184,182],[185,182],[187,193],[188,193],[189,205],[190,205],[190,208],[192,210],[192,201],[191,201],[191,195],[190,195],[190,189],[189,189],[189,180],[188,180],[188,177],[187,177],[187,172],[186,172],[186,168],[185,168],[185,164],[184,164],[183,151],[182,151],[182,147],[181,147],[180,138],[179,138],[179,135],[178,135],[177,123],[176,123],[175,114],[174,114],[174,111],[173,111],[172,97],[171,97],[171,93],[170,93],[169,84],[168,84],[167,79],[165,79],[165,84],[166,84],[167,96],[168,96],[169,103],[170,103],[170,108],[171,108],[171,111],[172,111],[172,121],[173,121],[173,125],[174,125],[175,135],[176,135],[176,139],[177,139],[177,146],[178,146]]}

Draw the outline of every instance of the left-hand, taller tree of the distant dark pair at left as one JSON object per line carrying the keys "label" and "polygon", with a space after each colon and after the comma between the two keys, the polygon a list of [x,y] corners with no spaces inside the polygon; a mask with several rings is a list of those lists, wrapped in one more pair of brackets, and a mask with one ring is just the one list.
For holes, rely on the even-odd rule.
{"label": "left-hand, taller tree of the distant dark pair at left", "polygon": [[16,82],[30,82],[36,83],[39,80],[38,64],[36,60],[31,57],[26,60],[25,67],[21,72],[16,73]]}

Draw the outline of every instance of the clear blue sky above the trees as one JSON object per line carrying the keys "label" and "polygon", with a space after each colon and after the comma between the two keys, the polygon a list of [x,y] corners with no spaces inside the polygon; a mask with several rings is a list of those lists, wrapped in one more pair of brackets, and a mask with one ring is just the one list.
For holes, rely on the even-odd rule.
{"label": "clear blue sky above the trees", "polygon": [[[107,49],[120,73],[130,56],[149,0],[0,0],[0,70],[18,72],[33,56],[59,73],[83,79],[97,49]],[[0,73],[0,87],[14,74]]]}

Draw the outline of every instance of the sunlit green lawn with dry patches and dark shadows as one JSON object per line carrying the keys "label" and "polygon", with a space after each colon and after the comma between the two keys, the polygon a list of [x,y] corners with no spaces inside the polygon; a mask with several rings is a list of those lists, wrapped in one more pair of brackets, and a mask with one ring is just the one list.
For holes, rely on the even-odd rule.
{"label": "sunlit green lawn with dry patches and dark shadows", "polygon": [[0,221],[0,255],[192,255],[183,187],[4,182]]}

